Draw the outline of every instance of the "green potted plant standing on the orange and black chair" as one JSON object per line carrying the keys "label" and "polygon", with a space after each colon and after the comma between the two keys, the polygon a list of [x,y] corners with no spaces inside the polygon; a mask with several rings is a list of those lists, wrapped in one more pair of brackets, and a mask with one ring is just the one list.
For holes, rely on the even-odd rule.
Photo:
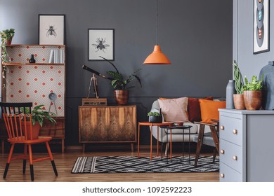
{"label": "green potted plant standing on the orange and black chair", "polygon": [[[27,130],[30,130],[30,126],[32,126],[32,139],[37,139],[39,136],[40,128],[44,125],[44,120],[48,119],[51,123],[56,123],[56,120],[53,116],[56,116],[53,112],[45,111],[42,107],[44,105],[35,106],[32,110],[32,122],[30,122],[30,111],[26,108],[25,114],[27,115]],[[22,115],[23,115],[22,111]],[[24,130],[24,127],[23,127]],[[27,138],[30,139],[30,132],[27,132]]]}

